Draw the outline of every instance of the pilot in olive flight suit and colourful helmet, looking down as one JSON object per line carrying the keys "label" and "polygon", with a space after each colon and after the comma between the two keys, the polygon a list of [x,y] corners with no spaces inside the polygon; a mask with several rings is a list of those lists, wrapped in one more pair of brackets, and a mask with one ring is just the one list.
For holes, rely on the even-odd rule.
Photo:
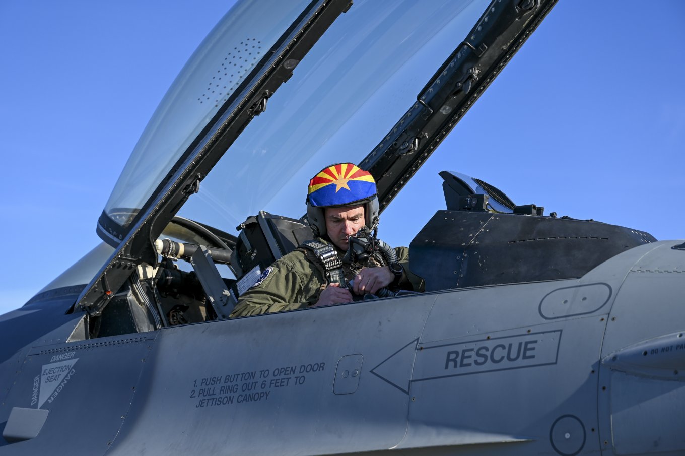
{"label": "pilot in olive flight suit and colourful helmet, looking down", "polygon": [[423,280],[408,271],[406,247],[393,250],[373,239],[391,261],[377,261],[372,256],[360,269],[359,263],[349,261],[349,237],[364,228],[361,232],[369,233],[368,240],[378,224],[378,197],[371,173],[351,163],[326,167],[310,180],[306,203],[316,239],[264,269],[259,280],[240,296],[231,317],[340,304],[374,293],[390,296],[384,294],[388,289],[423,289]]}

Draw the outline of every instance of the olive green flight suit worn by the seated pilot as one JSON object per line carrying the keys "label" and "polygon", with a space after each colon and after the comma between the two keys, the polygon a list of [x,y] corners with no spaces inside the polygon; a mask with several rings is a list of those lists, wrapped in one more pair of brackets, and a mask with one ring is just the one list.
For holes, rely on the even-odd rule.
{"label": "olive green flight suit worn by the seated pilot", "polygon": [[[330,243],[321,238],[316,241]],[[342,259],[344,252],[337,248],[336,251]],[[399,247],[395,252],[397,261],[405,271],[404,277],[400,280],[401,287],[423,291],[423,279],[409,272],[409,249]],[[345,280],[351,280],[356,272],[343,266],[343,274]],[[294,250],[264,269],[260,280],[242,293],[230,316],[245,317],[312,306],[319,300],[319,294],[326,285],[323,270],[312,263],[305,252],[300,249]]]}

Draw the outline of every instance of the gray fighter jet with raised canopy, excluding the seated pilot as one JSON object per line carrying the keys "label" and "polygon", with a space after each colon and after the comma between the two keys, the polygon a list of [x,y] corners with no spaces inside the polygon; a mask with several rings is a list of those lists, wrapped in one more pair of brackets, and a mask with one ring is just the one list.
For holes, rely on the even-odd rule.
{"label": "gray fighter jet with raised canopy, excluding the seated pilot", "polygon": [[216,25],[103,244],[0,317],[0,455],[685,451],[684,241],[458,170],[410,244],[424,293],[227,317],[311,236],[277,208],[312,171],[342,150],[386,208],[554,1],[380,3],[246,2]]}

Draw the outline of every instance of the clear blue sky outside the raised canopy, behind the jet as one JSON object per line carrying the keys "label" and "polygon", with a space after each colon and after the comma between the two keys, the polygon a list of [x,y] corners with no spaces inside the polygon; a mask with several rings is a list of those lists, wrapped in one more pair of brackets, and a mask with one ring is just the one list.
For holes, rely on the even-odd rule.
{"label": "clear blue sky outside the raised canopy, behind the jet", "polygon": [[[138,136],[228,3],[0,2],[0,313],[99,243]],[[684,21],[680,0],[560,0],[384,213],[382,239],[408,245],[444,208],[443,169],[684,239]]]}

